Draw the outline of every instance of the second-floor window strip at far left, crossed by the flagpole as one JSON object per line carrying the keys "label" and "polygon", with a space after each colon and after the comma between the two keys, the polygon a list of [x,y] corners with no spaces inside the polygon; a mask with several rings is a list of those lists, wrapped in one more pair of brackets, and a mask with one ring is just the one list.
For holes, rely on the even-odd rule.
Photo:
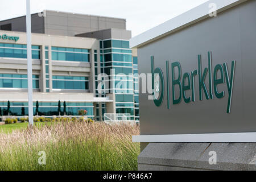
{"label": "second-floor window strip at far left, crossed by the flagpole", "polygon": [[[39,89],[39,76],[32,76],[34,89]],[[0,74],[0,88],[27,88],[27,75]]]}

